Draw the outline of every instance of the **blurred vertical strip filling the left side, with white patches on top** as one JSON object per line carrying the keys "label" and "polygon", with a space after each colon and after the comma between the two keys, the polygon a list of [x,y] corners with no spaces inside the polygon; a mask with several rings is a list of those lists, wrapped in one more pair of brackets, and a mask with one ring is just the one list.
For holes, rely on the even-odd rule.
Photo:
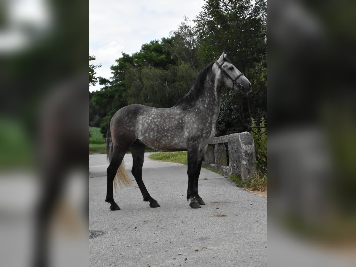
{"label": "blurred vertical strip filling the left side, with white patches on top", "polygon": [[88,266],[88,2],[0,7],[1,266]]}

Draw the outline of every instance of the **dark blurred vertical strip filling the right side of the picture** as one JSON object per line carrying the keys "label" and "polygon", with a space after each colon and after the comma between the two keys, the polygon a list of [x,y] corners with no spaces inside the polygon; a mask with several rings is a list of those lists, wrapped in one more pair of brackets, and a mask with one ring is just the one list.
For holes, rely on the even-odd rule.
{"label": "dark blurred vertical strip filling the right side of the picture", "polygon": [[268,2],[270,266],[355,266],[355,14]]}

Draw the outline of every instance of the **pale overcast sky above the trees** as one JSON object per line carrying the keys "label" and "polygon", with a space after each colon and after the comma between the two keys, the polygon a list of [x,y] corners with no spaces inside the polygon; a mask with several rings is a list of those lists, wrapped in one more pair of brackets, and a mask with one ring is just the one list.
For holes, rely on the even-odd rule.
{"label": "pale overcast sky above the trees", "polygon": [[[144,43],[168,37],[186,15],[193,20],[204,0],[90,0],[89,54],[95,56],[96,75],[111,77],[110,66],[121,51],[132,54]],[[192,22],[192,25],[194,23]],[[90,86],[90,91],[100,86]]]}

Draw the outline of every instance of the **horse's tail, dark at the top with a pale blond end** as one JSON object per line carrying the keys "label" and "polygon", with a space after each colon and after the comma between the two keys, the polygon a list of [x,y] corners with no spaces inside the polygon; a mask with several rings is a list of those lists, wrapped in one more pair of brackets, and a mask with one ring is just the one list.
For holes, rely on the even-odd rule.
{"label": "horse's tail, dark at the top with a pale blond end", "polygon": [[[110,120],[108,122],[108,131],[106,132],[106,153],[107,153],[109,162],[111,162],[112,155],[114,154],[114,145],[112,144],[111,131],[110,131],[111,119],[112,119],[112,117],[110,118]],[[120,189],[122,189],[123,187],[128,187],[132,184],[129,175],[126,172],[124,159],[122,159],[122,162],[121,162],[119,168],[117,169],[116,175],[114,177],[115,193],[117,192],[117,189],[118,189],[117,184],[119,184]]]}

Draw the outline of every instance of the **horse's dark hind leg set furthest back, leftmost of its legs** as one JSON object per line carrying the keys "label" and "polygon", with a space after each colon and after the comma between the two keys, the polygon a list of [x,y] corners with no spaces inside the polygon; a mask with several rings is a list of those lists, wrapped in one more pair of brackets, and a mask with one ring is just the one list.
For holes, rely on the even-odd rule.
{"label": "horse's dark hind leg set furthest back, leftmost of its legs", "polygon": [[120,210],[120,207],[114,201],[113,183],[114,183],[114,178],[116,176],[117,169],[119,169],[122,159],[124,159],[125,153],[126,150],[114,151],[109,167],[108,169],[106,169],[106,173],[108,174],[108,184],[106,185],[105,201],[110,203],[111,210]]}

